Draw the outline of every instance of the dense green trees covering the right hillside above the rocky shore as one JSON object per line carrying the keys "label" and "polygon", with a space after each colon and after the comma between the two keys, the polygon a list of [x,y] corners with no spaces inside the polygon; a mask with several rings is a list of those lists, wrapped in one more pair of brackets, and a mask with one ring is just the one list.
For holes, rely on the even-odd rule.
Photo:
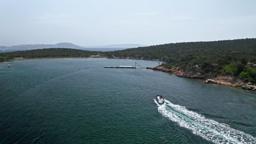
{"label": "dense green trees covering the right hillside above the rocky shore", "polygon": [[[245,72],[247,62],[256,63],[255,38],[154,45],[106,52],[106,55],[119,58],[159,59],[165,62],[162,66],[167,68],[199,65],[203,73],[211,72],[215,76],[226,73],[240,75],[243,71],[243,77],[249,77],[245,80],[256,82],[254,72]],[[222,70],[230,63],[234,63],[232,70]]]}

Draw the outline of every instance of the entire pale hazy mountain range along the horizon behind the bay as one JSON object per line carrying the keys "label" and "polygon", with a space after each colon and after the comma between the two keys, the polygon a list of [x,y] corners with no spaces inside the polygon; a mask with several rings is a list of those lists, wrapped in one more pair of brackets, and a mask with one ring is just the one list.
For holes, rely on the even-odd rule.
{"label": "entire pale hazy mountain range along the horizon behind the bay", "polygon": [[54,45],[36,44],[36,45],[14,45],[14,46],[0,46],[0,50],[34,50],[47,48],[71,48],[71,49],[86,49],[86,48],[134,48],[143,47],[146,45],[139,44],[120,44],[120,45],[101,45],[101,46],[79,46],[71,43],[58,43]]}

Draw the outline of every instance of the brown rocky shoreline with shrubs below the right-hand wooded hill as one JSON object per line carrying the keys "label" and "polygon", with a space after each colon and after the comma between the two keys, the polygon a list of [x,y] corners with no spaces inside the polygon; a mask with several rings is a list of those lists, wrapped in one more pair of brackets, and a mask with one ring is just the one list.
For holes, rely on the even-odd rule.
{"label": "brown rocky shoreline with shrubs below the right-hand wooded hill", "polygon": [[205,83],[213,83],[216,85],[226,85],[232,87],[241,87],[243,89],[247,89],[249,91],[256,92],[256,86],[252,85],[251,83],[246,83],[240,77],[234,75],[221,75],[217,77],[213,77],[211,73],[203,74],[201,72],[201,68],[198,65],[194,67],[182,69],[181,67],[173,67],[171,69],[165,67],[153,67],[153,68],[146,68],[152,70],[159,70],[165,73],[173,74],[179,77],[187,77],[191,79],[202,79]]}

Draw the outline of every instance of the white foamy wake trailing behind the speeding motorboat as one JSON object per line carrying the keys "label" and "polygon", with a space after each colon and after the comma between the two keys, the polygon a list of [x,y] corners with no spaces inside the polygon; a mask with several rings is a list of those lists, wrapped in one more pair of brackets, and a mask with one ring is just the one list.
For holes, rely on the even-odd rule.
{"label": "white foamy wake trailing behind the speeding motorboat", "polygon": [[199,135],[213,143],[256,143],[256,139],[242,131],[232,129],[228,124],[218,123],[207,119],[199,113],[189,111],[184,106],[167,104],[158,105],[158,111],[179,126],[187,128],[195,135]]}

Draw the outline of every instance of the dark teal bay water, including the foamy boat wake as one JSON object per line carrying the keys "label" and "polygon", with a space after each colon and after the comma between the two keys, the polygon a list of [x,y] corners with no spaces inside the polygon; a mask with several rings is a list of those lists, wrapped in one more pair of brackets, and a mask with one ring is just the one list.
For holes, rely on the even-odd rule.
{"label": "dark teal bay water, including the foamy boat wake", "polygon": [[[0,64],[0,143],[255,143],[256,94],[131,59]],[[168,105],[156,105],[164,94]]]}

